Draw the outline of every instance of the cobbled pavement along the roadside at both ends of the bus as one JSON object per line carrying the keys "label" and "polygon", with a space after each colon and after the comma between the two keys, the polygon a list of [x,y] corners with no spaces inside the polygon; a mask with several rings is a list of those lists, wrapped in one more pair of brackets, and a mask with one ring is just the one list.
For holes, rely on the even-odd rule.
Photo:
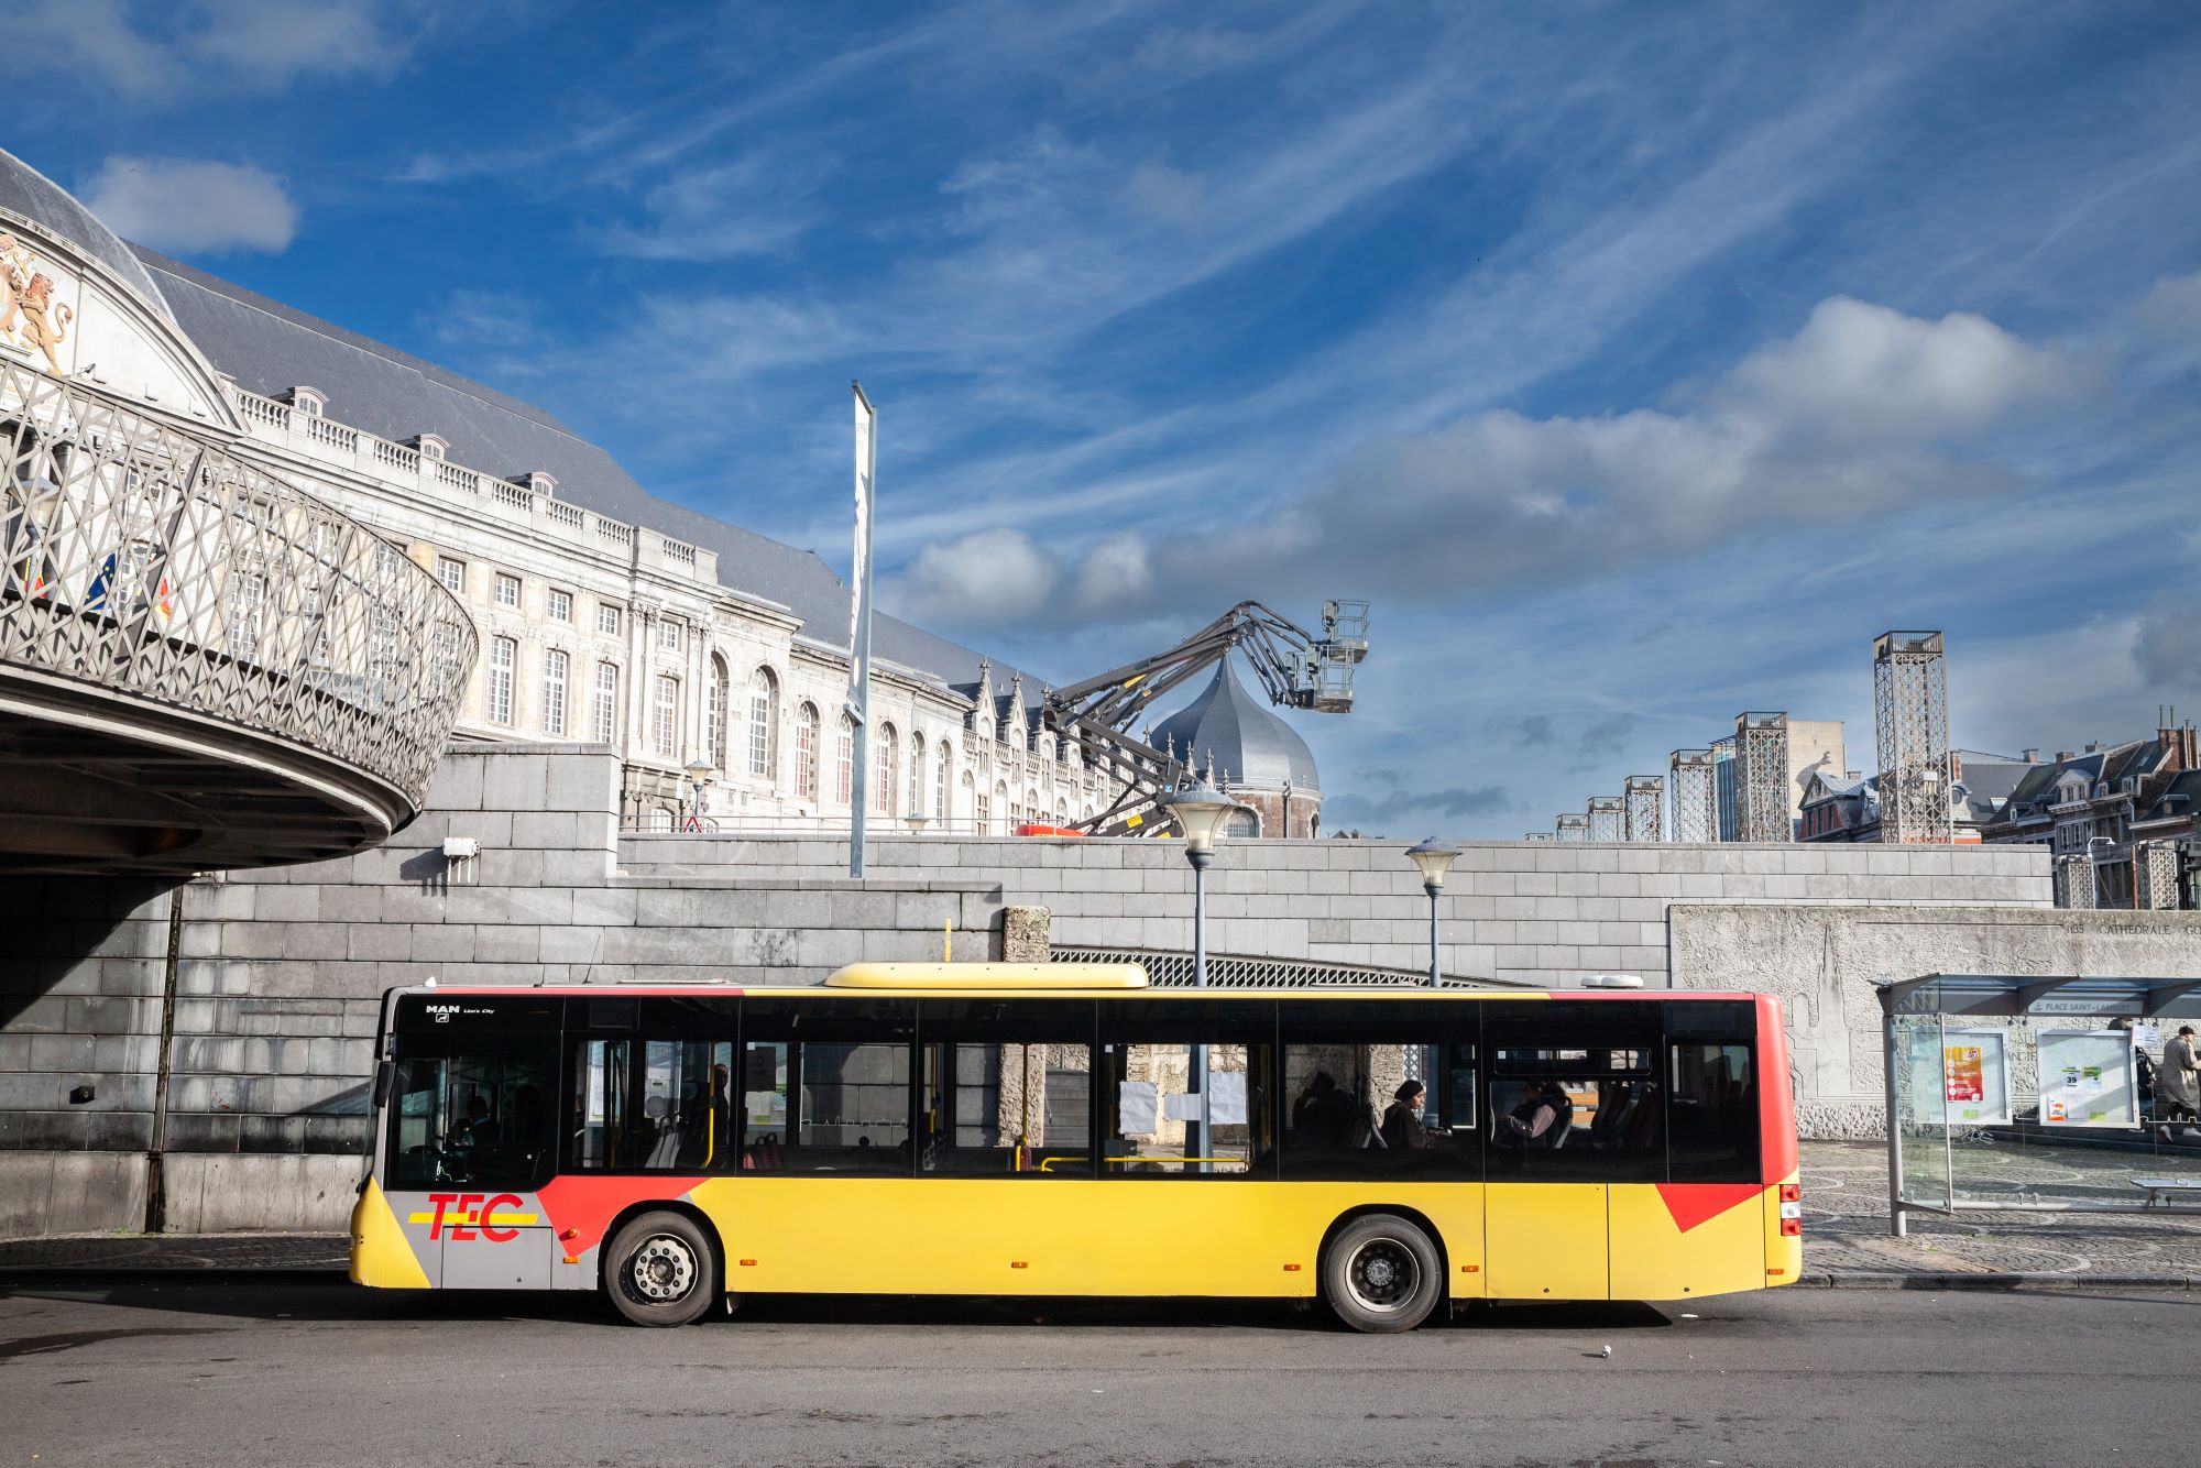
{"label": "cobbled pavement along the roadside at both ends of the bus", "polygon": [[[1932,1158],[1921,1158],[1930,1162]],[[2201,1155],[2084,1151],[2014,1142],[1954,1155],[1961,1195],[2023,1193],[2040,1202],[2137,1202],[2133,1177],[2201,1182]],[[1864,1274],[2153,1274],[2201,1288],[2201,1208],[2190,1215],[1910,1215],[1888,1235],[1888,1164],[1877,1142],[1803,1144],[1805,1277]],[[332,1235],[97,1235],[0,1241],[0,1272],[324,1270],[346,1268]]]}

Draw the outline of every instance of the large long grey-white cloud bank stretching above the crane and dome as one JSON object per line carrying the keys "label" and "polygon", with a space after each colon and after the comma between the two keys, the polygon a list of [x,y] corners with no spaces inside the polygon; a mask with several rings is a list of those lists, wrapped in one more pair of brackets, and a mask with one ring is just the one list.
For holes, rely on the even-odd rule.
{"label": "large long grey-white cloud bank stretching above the crane and dome", "polygon": [[[1233,530],[1230,563],[1246,568],[1237,585],[1213,583],[1213,548],[1118,535],[1063,561],[1019,535],[1028,559],[1050,566],[1043,596],[1017,603],[1004,583],[982,601],[938,594],[927,605],[962,625],[1151,614],[1149,596],[1089,590],[1123,566],[1173,601],[1314,581],[1422,603],[1466,588],[1565,585],[1686,559],[1772,524],[1844,522],[2005,489],[2007,471],[1948,449],[1974,445],[2018,407],[2069,401],[2082,387],[2054,352],[1983,317],[1926,321],[1833,297],[1686,407],[1600,418],[1483,412],[1371,442],[1316,489]],[[984,546],[988,535],[951,546]]]}

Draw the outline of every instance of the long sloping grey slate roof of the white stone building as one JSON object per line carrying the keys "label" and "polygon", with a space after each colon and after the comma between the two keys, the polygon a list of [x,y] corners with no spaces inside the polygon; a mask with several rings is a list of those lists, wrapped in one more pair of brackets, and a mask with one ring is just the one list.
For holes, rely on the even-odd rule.
{"label": "long sloping grey slate roof of the white stone building", "polygon": [[[4,196],[0,202],[7,202]],[[90,220],[88,213],[84,218]],[[97,220],[90,222],[97,227]],[[70,238],[81,240],[77,233]],[[559,500],[718,552],[722,585],[790,607],[812,640],[847,645],[847,583],[814,550],[784,546],[651,495],[618,460],[533,403],[145,247],[123,253],[132,249],[132,271],[147,284],[158,282],[154,291],[167,299],[172,319],[244,390],[275,396],[297,385],[317,387],[328,394],[332,420],[379,438],[440,434],[451,445],[447,458],[453,464],[506,480],[537,469],[550,473]],[[933,673],[964,695],[977,687],[977,651],[900,618],[878,614],[872,647],[876,656]],[[995,660],[995,687],[1006,687],[1010,671]],[[1026,700],[1037,702],[1039,680],[1023,682]]]}

